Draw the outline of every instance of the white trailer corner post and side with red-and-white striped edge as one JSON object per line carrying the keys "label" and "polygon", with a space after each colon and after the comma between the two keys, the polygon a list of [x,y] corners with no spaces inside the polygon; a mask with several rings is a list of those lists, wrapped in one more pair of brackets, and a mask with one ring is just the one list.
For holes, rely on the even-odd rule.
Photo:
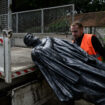
{"label": "white trailer corner post and side with red-and-white striped edge", "polygon": [[4,79],[6,83],[12,83],[12,79],[36,71],[34,63],[20,68],[18,71],[11,70],[11,38],[0,37],[0,57],[0,78]]}

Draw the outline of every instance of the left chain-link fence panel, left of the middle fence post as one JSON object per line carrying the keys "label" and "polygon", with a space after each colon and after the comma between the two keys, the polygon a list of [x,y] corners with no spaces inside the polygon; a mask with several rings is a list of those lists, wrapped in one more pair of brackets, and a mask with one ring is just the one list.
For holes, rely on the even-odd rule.
{"label": "left chain-link fence panel, left of the middle fence post", "polygon": [[14,13],[12,20],[14,32],[41,32],[41,10]]}

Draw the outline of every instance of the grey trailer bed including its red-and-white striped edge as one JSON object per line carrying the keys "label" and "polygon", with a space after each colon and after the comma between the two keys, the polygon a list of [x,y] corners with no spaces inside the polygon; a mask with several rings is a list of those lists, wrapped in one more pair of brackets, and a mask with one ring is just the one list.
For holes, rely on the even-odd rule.
{"label": "grey trailer bed including its red-and-white striped edge", "polygon": [[[12,47],[11,48],[11,77],[17,78],[36,70],[31,59],[32,48]],[[5,78],[4,71],[0,71],[0,78]]]}

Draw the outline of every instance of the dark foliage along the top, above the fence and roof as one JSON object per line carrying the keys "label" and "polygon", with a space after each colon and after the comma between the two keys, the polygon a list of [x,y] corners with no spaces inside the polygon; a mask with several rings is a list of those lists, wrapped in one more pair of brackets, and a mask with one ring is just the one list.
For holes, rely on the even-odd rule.
{"label": "dark foliage along the top, above the fence and roof", "polygon": [[12,0],[13,12],[45,8],[51,6],[75,4],[77,13],[96,12],[105,10],[104,0]]}

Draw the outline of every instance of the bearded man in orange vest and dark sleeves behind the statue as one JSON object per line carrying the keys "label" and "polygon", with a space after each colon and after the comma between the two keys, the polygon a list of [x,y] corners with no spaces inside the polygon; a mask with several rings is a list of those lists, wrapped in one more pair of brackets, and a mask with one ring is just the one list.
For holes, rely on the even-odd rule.
{"label": "bearded man in orange vest and dark sleeves behind the statue", "polygon": [[102,61],[102,57],[105,59],[105,49],[95,35],[84,34],[83,25],[79,22],[74,22],[70,28],[73,35],[73,43],[80,46],[89,55],[95,56],[98,60]]}

